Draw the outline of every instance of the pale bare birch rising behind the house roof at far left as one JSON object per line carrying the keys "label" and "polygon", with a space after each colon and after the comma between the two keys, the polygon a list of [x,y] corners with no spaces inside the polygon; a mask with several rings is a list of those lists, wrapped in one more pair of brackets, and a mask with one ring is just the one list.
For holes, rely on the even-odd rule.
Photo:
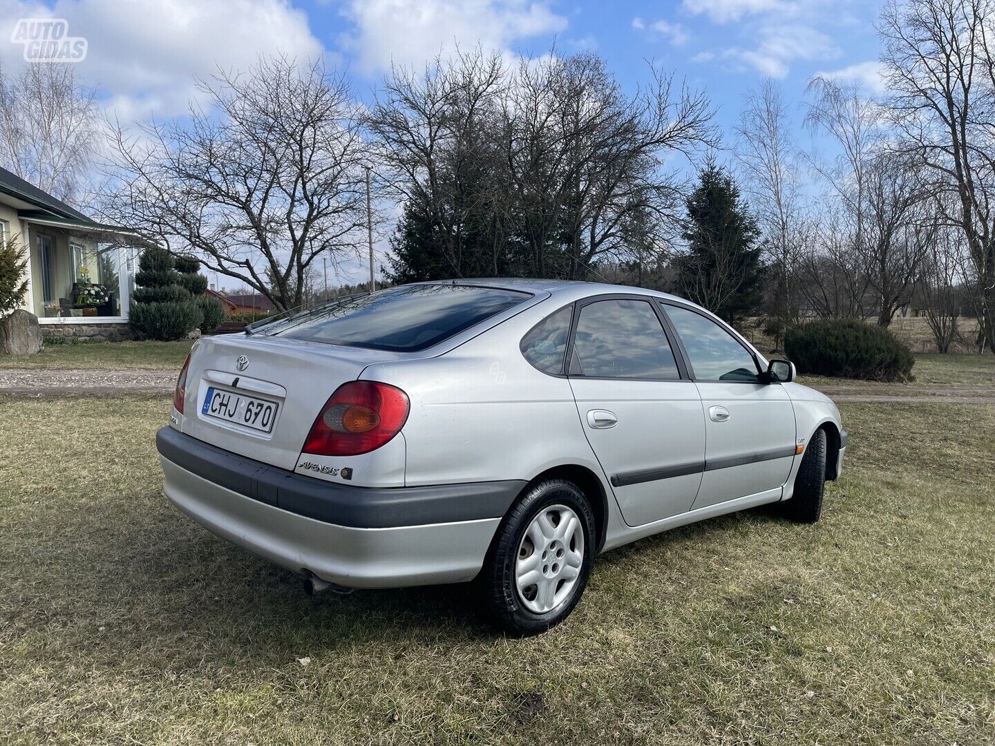
{"label": "pale bare birch rising behind the house roof at far left", "polygon": [[78,203],[101,131],[96,94],[70,63],[0,66],[0,163],[39,189]]}

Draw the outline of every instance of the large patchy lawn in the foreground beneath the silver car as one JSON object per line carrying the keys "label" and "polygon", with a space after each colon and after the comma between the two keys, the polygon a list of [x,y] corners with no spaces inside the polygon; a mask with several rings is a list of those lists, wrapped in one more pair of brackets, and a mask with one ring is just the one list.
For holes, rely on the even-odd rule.
{"label": "large patchy lawn in the foreground beneath the silver car", "polygon": [[0,742],[995,740],[995,407],[845,404],[821,523],[609,552],[529,640],[467,587],[305,597],[162,496],[168,408],[0,400]]}

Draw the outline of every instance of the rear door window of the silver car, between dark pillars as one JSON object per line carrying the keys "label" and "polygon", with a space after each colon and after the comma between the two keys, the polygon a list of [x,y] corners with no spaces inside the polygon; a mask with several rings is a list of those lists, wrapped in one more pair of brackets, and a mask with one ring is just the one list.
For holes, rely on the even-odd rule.
{"label": "rear door window of the silver car, between dark pillars", "polygon": [[677,362],[646,300],[597,300],[580,309],[570,374],[591,378],[677,379]]}

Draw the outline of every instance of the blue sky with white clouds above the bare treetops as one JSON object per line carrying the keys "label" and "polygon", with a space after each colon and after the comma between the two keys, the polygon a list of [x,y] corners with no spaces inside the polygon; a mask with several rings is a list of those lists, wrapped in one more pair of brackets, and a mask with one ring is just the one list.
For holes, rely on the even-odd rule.
{"label": "blue sky with white clouds above the bare treetops", "polygon": [[555,44],[561,53],[597,51],[630,91],[647,80],[647,61],[676,71],[707,91],[729,135],[742,94],[765,76],[782,84],[797,121],[814,75],[878,89],[880,7],[860,0],[0,0],[0,64],[22,64],[22,47],[10,41],[19,18],[64,18],[70,34],[89,43],[80,77],[126,122],[182,115],[197,97],[195,75],[216,65],[245,69],[260,54],[324,55],[368,97],[391,62],[421,66],[457,44],[509,59]]}

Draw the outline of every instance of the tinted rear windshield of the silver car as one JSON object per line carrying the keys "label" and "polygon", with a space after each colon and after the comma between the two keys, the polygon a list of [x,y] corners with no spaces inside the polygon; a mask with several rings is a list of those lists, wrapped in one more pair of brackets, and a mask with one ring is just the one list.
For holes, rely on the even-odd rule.
{"label": "tinted rear windshield of the silver car", "polygon": [[531,297],[497,287],[415,284],[302,311],[259,329],[327,344],[415,352]]}

